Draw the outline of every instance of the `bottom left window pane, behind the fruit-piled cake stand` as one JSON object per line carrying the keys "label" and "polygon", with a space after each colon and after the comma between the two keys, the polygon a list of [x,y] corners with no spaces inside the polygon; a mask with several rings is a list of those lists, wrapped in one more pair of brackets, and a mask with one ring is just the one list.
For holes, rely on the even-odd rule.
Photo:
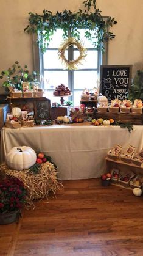
{"label": "bottom left window pane, behind the fruit-piled cake stand", "polygon": [[44,89],[54,89],[59,84],[68,86],[68,71],[44,71]]}

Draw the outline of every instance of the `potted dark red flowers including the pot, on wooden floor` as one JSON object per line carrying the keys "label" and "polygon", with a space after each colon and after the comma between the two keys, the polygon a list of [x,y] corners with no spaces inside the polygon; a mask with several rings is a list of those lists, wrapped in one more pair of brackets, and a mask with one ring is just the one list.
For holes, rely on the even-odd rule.
{"label": "potted dark red flowers including the pot, on wooden floor", "polygon": [[21,208],[27,202],[27,191],[17,178],[0,181],[0,224],[18,221]]}

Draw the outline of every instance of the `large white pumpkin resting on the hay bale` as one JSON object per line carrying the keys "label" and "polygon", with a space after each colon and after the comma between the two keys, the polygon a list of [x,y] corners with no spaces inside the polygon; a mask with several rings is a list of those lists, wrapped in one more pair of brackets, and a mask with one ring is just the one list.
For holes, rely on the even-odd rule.
{"label": "large white pumpkin resting on the hay bale", "polygon": [[15,170],[29,169],[35,164],[37,155],[35,151],[26,146],[13,147],[7,154],[7,165]]}

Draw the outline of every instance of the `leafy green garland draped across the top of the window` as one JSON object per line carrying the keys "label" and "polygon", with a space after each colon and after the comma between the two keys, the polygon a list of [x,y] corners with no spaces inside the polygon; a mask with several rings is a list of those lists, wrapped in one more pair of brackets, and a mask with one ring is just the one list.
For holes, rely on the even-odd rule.
{"label": "leafy green garland draped across the top of the window", "polygon": [[39,35],[37,43],[42,51],[45,51],[52,35],[57,29],[63,29],[63,38],[68,39],[68,31],[71,31],[71,37],[80,40],[80,31],[85,29],[85,38],[93,42],[96,49],[102,47],[103,42],[111,40],[115,35],[109,31],[110,27],[117,23],[114,18],[108,17],[103,20],[102,11],[96,9],[96,0],[86,0],[83,2],[84,10],[79,9],[77,12],[63,10],[56,12],[55,15],[49,10],[43,10],[43,15],[30,12],[29,25],[24,29],[28,34]]}

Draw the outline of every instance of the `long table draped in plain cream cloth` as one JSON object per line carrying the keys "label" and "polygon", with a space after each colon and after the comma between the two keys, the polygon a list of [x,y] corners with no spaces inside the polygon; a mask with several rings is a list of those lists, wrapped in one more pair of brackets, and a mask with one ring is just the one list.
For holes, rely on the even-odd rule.
{"label": "long table draped in plain cream cloth", "polygon": [[104,170],[106,153],[116,144],[143,147],[143,126],[131,133],[119,126],[52,125],[2,128],[1,162],[12,147],[29,146],[43,152],[57,164],[58,178],[77,180],[97,178]]}

